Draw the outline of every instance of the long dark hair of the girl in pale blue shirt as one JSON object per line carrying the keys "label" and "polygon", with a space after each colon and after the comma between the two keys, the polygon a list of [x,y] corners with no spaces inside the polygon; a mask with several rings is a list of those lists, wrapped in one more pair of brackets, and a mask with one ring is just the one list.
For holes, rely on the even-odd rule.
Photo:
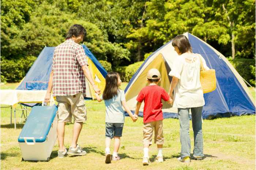
{"label": "long dark hair of the girl in pale blue shirt", "polygon": [[117,95],[118,87],[118,76],[117,72],[109,72],[106,75],[106,86],[103,91],[102,98],[104,100],[112,99],[115,95]]}

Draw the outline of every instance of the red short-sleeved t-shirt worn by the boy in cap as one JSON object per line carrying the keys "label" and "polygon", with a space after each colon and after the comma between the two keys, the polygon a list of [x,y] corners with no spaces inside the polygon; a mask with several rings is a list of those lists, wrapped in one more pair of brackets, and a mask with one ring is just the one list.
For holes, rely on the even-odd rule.
{"label": "red short-sleeved t-shirt worn by the boy in cap", "polygon": [[143,123],[163,120],[162,101],[168,101],[169,94],[160,86],[146,86],[140,91],[137,101],[144,101]]}

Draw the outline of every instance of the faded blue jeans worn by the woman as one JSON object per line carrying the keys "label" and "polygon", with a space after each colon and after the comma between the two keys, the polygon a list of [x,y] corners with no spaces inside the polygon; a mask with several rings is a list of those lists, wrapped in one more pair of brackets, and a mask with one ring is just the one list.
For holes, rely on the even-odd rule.
{"label": "faded blue jeans worn by the woman", "polygon": [[202,107],[178,108],[180,120],[180,142],[181,158],[190,157],[190,136],[189,136],[189,109],[192,113],[192,127],[194,132],[193,156],[204,156],[203,154],[203,131],[202,131]]}

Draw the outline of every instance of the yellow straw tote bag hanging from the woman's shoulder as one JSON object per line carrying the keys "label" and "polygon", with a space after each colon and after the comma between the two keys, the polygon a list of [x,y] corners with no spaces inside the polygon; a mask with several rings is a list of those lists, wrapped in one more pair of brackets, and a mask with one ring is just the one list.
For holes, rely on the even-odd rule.
{"label": "yellow straw tote bag hanging from the woman's shoulder", "polygon": [[200,83],[203,88],[203,93],[212,92],[216,89],[216,75],[215,69],[205,70],[202,59],[200,58]]}

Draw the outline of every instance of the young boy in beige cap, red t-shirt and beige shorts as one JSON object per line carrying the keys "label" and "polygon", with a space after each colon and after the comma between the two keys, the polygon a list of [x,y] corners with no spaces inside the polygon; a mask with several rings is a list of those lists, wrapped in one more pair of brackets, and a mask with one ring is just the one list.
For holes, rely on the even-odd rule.
{"label": "young boy in beige cap, red t-shirt and beige shorts", "polygon": [[142,101],[144,101],[143,110],[143,165],[149,165],[148,147],[152,144],[153,131],[155,131],[155,140],[158,148],[158,155],[156,162],[163,162],[162,148],[163,148],[163,112],[161,99],[168,103],[172,103],[172,99],[167,94],[165,89],[158,86],[161,80],[160,72],[153,68],[147,73],[148,86],[142,88],[138,97],[135,114],[139,114],[139,109]]}

